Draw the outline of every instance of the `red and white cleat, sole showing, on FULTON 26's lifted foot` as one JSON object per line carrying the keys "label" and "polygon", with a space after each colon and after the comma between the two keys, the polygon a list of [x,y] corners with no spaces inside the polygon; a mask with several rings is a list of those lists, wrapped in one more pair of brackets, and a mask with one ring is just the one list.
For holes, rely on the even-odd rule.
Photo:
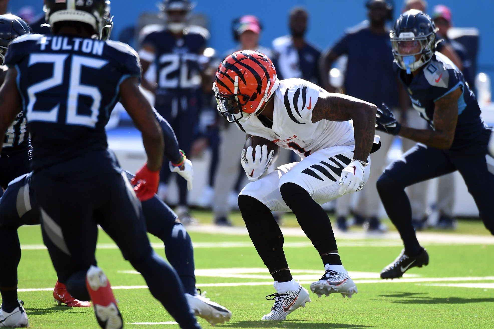
{"label": "red and white cleat, sole showing, on FULTON 26's lifted foot", "polygon": [[86,274],[86,287],[93,302],[94,314],[103,329],[122,329],[124,321],[105,273],[96,266]]}

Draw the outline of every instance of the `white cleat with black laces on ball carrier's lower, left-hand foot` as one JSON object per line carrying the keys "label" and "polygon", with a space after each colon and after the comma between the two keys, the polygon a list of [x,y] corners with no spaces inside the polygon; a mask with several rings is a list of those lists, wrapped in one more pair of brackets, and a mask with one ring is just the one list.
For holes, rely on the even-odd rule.
{"label": "white cleat with black laces on ball carrier's lower, left-hand foot", "polygon": [[[274,283],[276,289],[277,283]],[[278,289],[277,289],[278,290]],[[269,297],[269,298],[268,298]],[[271,312],[262,317],[263,321],[282,321],[287,320],[287,315],[299,307],[305,307],[305,303],[310,303],[309,292],[304,287],[298,285],[296,290],[288,292],[277,292],[266,296],[267,300],[275,301]]]}

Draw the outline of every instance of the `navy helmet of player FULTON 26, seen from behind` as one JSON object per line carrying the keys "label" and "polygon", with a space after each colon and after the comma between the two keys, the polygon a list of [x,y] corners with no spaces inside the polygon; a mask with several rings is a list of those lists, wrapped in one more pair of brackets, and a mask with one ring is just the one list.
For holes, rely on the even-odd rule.
{"label": "navy helmet of player FULTON 26, seen from behind", "polygon": [[110,0],[45,0],[43,10],[49,25],[53,26],[57,22],[86,23],[100,39],[103,37],[103,29],[111,21]]}

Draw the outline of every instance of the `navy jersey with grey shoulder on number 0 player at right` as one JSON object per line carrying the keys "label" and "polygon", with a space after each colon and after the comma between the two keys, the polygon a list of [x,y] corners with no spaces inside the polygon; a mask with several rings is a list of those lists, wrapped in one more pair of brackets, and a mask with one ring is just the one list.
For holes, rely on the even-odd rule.
{"label": "navy jersey with grey shoulder on number 0 player at right", "polygon": [[475,94],[465,83],[463,73],[448,57],[436,52],[415,76],[407,74],[396,64],[395,70],[409,93],[413,108],[432,128],[434,128],[434,102],[461,88],[463,92],[458,99],[458,122],[451,149],[469,146],[477,141],[484,131],[479,104]]}

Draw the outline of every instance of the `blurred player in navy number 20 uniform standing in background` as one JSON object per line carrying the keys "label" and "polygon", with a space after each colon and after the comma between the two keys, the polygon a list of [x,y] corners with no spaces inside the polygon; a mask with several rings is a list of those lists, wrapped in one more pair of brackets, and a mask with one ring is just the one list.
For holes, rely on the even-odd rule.
{"label": "blurred player in navy number 20 uniform standing in background", "polygon": [[[156,82],[142,79],[141,86],[155,94],[155,108],[175,130],[177,140],[187,154],[195,138],[201,106],[201,82],[204,70],[204,50],[209,32],[188,23],[193,5],[189,0],[165,0],[162,10],[164,25],[144,27],[139,56],[144,76],[151,66],[157,68]],[[164,159],[163,163],[179,159]],[[171,172],[180,174],[178,167],[163,166],[158,194],[165,199]],[[179,198],[175,209],[182,223],[195,219],[189,214],[187,182],[177,180]]]}

